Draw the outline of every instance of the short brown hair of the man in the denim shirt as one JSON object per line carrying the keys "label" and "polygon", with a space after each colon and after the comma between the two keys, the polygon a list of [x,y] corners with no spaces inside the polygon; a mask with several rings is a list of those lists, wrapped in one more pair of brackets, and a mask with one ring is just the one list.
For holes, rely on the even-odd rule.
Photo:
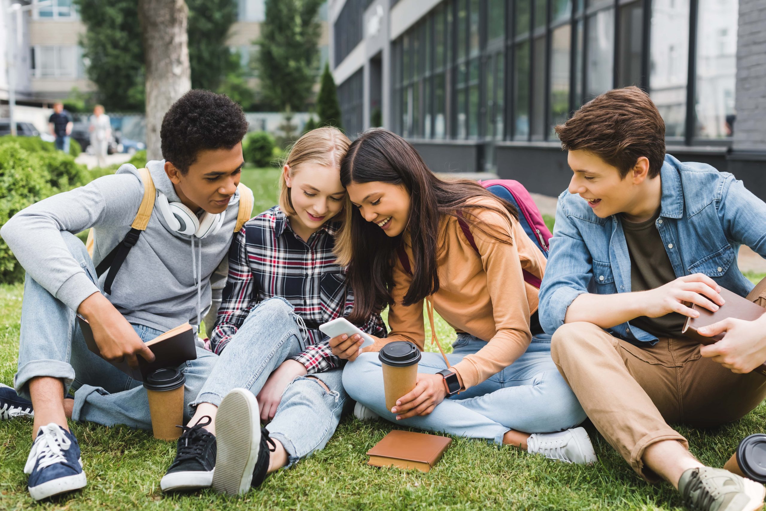
{"label": "short brown hair of the man in the denim shirt", "polygon": [[624,178],[641,156],[649,177],[665,160],[665,122],[652,99],[636,86],[613,89],[585,103],[555,128],[565,151],[587,151],[617,167]]}

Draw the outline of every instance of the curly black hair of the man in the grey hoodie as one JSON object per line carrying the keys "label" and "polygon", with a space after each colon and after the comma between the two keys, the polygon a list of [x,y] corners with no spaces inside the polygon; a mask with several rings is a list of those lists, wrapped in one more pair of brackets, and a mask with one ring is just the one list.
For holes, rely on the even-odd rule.
{"label": "curly black hair of the man in the grey hoodie", "polygon": [[224,94],[190,90],[162,118],[162,158],[186,174],[199,151],[231,149],[245,133],[247,119],[241,106]]}

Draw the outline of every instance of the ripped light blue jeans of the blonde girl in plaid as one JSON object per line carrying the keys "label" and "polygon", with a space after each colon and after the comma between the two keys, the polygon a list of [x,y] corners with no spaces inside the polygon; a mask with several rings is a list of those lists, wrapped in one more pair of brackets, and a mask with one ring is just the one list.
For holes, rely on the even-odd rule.
{"label": "ripped light blue jeans of the blonde girl in plaid", "polygon": [[[221,405],[224,395],[237,387],[257,395],[274,369],[305,347],[293,306],[280,297],[260,302],[221,351],[192,405]],[[335,433],[345,403],[342,369],[311,376],[299,376],[286,387],[277,414],[267,425],[270,437],[280,441],[287,451],[288,467],[325,447]],[[315,378],[321,379],[330,392]]]}

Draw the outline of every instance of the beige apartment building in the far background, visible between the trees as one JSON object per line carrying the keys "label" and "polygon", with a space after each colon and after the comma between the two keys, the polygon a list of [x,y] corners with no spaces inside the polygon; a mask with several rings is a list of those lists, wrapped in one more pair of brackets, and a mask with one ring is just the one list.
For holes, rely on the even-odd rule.
{"label": "beige apartment building in the far background, visible between the trees", "polygon": [[[21,15],[21,44],[15,60],[16,99],[19,103],[50,104],[55,99],[65,99],[74,88],[88,93],[96,90],[94,83],[87,79],[87,60],[83,59],[78,41],[85,31],[77,8],[72,0],[52,0],[40,4],[41,0],[0,0],[0,101],[8,99],[8,76],[5,73],[7,61],[7,38],[11,34],[14,20],[5,11],[12,3],[31,5]],[[253,43],[260,36],[260,24],[266,18],[265,0],[232,0],[237,2],[237,21],[231,27],[228,46],[232,53],[240,56],[250,86],[257,85],[257,71],[254,62],[257,45]],[[37,5],[40,4],[40,5]],[[322,37],[319,41],[320,66],[328,59],[329,27],[327,5],[320,10]],[[140,44],[140,41],[136,41]],[[322,69],[319,67],[319,70]]]}

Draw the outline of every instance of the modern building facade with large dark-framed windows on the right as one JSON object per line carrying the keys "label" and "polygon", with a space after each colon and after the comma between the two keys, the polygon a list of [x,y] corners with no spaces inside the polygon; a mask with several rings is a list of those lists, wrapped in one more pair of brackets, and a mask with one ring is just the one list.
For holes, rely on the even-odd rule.
{"label": "modern building facade with large dark-framed windows on the right", "polygon": [[762,0],[331,0],[343,122],[383,125],[434,171],[494,171],[557,195],[554,126],[636,85],[667,151],[732,171],[766,198]]}

